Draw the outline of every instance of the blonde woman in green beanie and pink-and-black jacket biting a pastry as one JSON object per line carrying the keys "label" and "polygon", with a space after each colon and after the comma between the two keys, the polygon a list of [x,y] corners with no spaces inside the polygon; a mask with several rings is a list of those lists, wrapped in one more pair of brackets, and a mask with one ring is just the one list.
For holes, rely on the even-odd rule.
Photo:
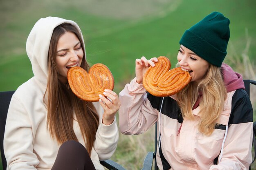
{"label": "blonde woman in green beanie and pink-and-black jacket biting a pastry", "polygon": [[157,122],[161,170],[247,170],[252,162],[253,110],[243,78],[223,63],[229,19],[213,12],[186,30],[178,65],[191,82],[170,97],[147,93],[142,77],[157,58],[136,59],[136,77],[119,93],[123,134],[141,134]]}

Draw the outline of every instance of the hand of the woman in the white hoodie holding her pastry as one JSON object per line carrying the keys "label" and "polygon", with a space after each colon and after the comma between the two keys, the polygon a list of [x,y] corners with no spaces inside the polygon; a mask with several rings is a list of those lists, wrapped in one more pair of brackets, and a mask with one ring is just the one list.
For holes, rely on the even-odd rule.
{"label": "hand of the woman in the white hoodie holding her pastry", "polygon": [[115,115],[121,105],[121,102],[118,95],[111,90],[104,90],[103,95],[99,95],[99,103],[104,109],[102,123],[110,125],[115,119]]}

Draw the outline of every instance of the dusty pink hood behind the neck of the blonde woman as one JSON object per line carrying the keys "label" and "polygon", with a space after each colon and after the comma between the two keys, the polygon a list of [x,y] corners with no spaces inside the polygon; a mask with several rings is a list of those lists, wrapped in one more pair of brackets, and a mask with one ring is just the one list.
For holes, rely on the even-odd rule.
{"label": "dusty pink hood behind the neck of the blonde woman", "polygon": [[223,63],[221,65],[221,71],[227,92],[231,92],[240,88],[245,89],[242,75],[234,72],[229,65]]}

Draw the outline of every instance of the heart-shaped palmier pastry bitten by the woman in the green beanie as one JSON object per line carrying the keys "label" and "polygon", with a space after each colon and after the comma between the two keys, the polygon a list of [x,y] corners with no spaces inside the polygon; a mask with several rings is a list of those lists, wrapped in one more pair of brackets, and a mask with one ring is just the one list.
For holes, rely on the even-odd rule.
{"label": "heart-shaped palmier pastry bitten by the woman in the green beanie", "polygon": [[174,95],[181,91],[192,77],[181,67],[170,70],[171,62],[167,57],[160,56],[155,66],[150,66],[143,76],[143,86],[148,93],[157,97]]}

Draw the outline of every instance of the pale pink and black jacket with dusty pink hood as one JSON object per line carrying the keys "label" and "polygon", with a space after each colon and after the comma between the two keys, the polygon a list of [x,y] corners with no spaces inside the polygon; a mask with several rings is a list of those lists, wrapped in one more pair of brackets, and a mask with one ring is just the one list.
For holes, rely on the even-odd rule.
{"label": "pale pink and black jacket with dusty pink hood", "polygon": [[[210,136],[195,120],[183,119],[175,97],[155,97],[133,79],[119,93],[119,126],[123,134],[141,134],[157,121],[157,166],[160,170],[247,170],[252,162],[253,110],[243,78],[222,64],[227,99]],[[203,95],[203,94],[202,94]],[[125,103],[125,104],[124,104]],[[182,126],[181,126],[182,125]]]}

